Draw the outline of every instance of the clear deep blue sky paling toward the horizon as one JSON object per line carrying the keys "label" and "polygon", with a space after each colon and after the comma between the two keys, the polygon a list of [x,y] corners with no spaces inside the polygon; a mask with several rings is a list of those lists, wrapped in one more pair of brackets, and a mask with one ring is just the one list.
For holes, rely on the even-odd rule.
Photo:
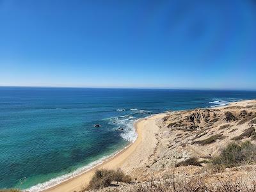
{"label": "clear deep blue sky paling toward the horizon", "polygon": [[0,0],[0,85],[256,89],[256,1]]}

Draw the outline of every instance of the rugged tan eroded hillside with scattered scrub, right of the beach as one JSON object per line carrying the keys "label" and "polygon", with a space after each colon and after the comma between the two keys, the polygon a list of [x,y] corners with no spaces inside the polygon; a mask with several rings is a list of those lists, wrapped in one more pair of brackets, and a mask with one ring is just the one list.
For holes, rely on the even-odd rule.
{"label": "rugged tan eroded hillside with scattered scrub, right of the beach", "polygon": [[[161,123],[160,123],[161,122]],[[256,101],[190,111],[173,111],[159,122],[153,170],[198,157],[209,159],[231,141],[256,141]]]}

